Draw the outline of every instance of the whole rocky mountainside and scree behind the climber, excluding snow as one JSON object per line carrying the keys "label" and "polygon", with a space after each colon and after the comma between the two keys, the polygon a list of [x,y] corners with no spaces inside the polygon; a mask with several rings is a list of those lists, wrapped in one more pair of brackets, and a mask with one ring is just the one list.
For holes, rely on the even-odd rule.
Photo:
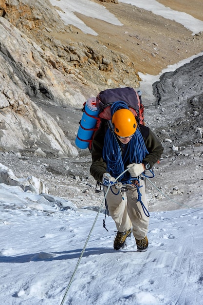
{"label": "whole rocky mountainside and scree behind the climber, excluding snow", "polygon": [[[98,33],[93,37],[65,26],[48,0],[0,0],[0,160],[24,181],[4,171],[2,183],[31,190],[39,177],[49,193],[77,207],[99,207],[103,194],[94,194],[91,155],[74,146],[83,102],[104,89],[137,88],[138,68],[158,75],[203,50],[203,33],[192,36],[181,24],[117,0],[102,2],[123,26],[79,14]],[[202,67],[199,57],[164,74],[153,86],[154,103],[143,96],[146,124],[165,148],[155,183],[167,194],[184,194],[183,203],[191,201],[191,179],[202,190]],[[161,198],[148,192],[151,205]]]}

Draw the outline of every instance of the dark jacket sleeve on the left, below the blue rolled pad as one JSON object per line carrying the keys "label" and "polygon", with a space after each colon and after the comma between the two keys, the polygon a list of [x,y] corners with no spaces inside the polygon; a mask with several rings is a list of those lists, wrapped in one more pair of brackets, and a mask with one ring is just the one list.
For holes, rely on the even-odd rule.
{"label": "dark jacket sleeve on the left, below the blue rolled pad", "polygon": [[103,146],[105,133],[98,129],[92,141],[92,165],[90,173],[95,180],[102,182],[102,176],[107,172],[107,164],[103,160]]}

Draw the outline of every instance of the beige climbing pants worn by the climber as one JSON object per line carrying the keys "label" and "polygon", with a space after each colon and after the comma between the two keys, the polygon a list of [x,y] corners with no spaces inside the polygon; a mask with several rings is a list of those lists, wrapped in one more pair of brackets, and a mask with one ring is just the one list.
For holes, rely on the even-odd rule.
{"label": "beige climbing pants worn by the climber", "polygon": [[[148,212],[148,203],[145,194],[145,181],[139,179],[141,200]],[[127,191],[116,189],[113,185],[107,194],[106,203],[116,229],[124,232],[132,228],[136,239],[143,239],[148,232],[149,217],[145,214],[140,201],[138,201],[137,187],[125,185]],[[104,188],[107,191],[107,187]]]}

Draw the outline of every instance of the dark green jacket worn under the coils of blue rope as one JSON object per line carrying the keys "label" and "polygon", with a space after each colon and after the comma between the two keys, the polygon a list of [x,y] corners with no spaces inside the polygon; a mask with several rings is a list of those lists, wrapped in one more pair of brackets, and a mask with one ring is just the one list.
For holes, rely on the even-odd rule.
{"label": "dark green jacket worn under the coils of blue rope", "polygon": [[[149,152],[148,155],[146,155],[146,157],[143,159],[143,162],[148,162],[151,168],[161,157],[164,148],[161,142],[147,126],[139,125],[139,128],[145,141],[146,148]],[[104,136],[105,128],[101,127],[96,131],[92,141],[92,165],[90,167],[90,172],[94,179],[99,182],[102,182],[102,176],[105,172],[107,172],[107,164],[103,160],[102,154]]]}

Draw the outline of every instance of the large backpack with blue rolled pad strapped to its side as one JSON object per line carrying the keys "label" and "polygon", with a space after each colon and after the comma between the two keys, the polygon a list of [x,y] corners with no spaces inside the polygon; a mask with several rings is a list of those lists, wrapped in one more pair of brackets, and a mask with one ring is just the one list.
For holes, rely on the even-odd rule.
{"label": "large backpack with blue rolled pad strapped to its side", "polygon": [[[141,92],[131,87],[114,88],[101,91],[96,97],[91,97],[84,103],[84,114],[75,139],[75,144],[81,148],[92,149],[92,139],[98,130],[101,120],[111,120],[111,106],[114,102],[125,102],[134,114],[139,124],[144,123],[144,105]],[[88,107],[88,105],[90,105]]]}

